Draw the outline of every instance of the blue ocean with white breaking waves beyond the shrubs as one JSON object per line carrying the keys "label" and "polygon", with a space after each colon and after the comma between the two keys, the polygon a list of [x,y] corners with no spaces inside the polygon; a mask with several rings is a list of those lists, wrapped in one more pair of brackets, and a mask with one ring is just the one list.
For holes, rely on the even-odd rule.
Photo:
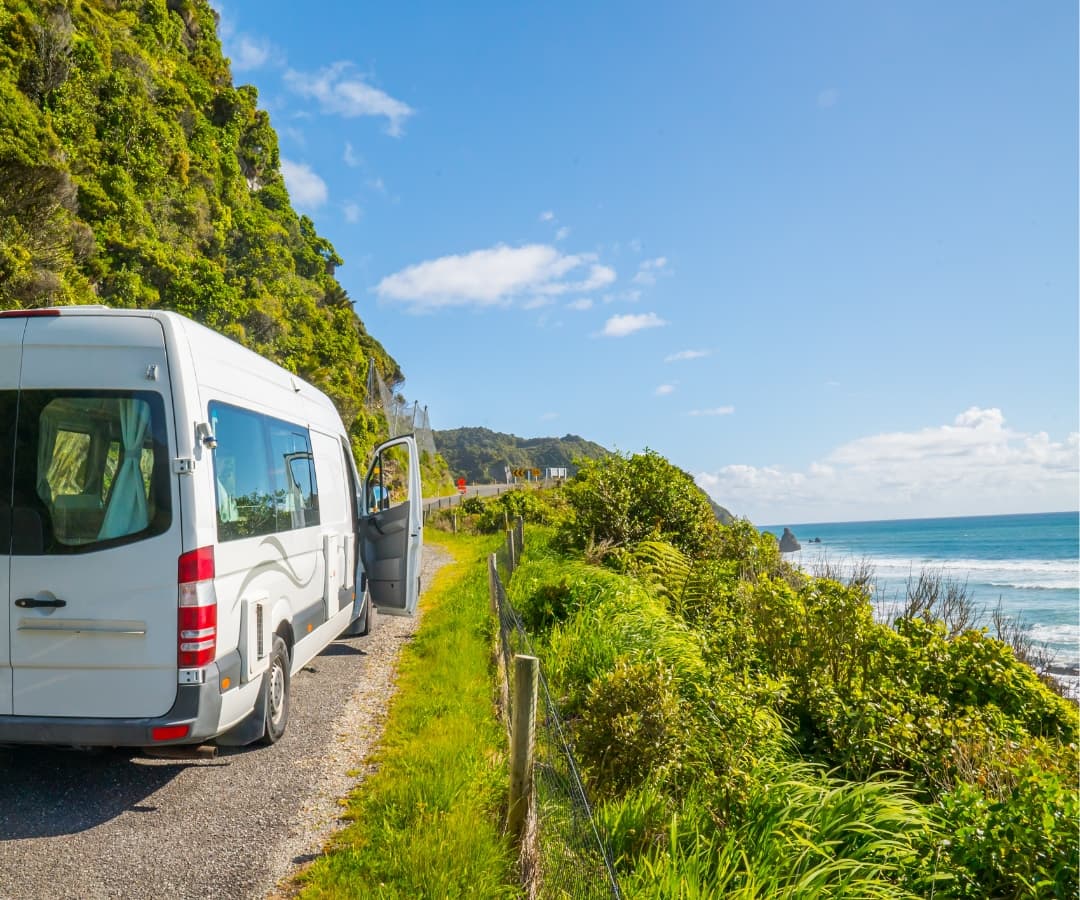
{"label": "blue ocean with white breaking waves beyond the shrubs", "polygon": [[[875,570],[875,605],[894,607],[909,577],[923,568],[967,581],[983,610],[1000,605],[1052,655],[1055,666],[1080,666],[1080,513],[976,515],[886,522],[772,525],[788,527],[802,549],[784,559],[807,572],[822,560],[841,568],[867,561]],[[810,542],[820,538],[821,543]],[[991,628],[993,633],[993,628]]]}

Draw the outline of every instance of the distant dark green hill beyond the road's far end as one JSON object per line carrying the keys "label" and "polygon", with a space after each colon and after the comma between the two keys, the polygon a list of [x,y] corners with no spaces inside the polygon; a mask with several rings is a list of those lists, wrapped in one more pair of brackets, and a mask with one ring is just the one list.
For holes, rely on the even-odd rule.
{"label": "distant dark green hill beyond the road's far end", "polygon": [[545,469],[573,460],[598,459],[608,451],[599,444],[567,434],[563,438],[518,438],[487,428],[455,428],[435,432],[435,446],[450,467],[450,474],[470,482],[503,481],[504,469]]}

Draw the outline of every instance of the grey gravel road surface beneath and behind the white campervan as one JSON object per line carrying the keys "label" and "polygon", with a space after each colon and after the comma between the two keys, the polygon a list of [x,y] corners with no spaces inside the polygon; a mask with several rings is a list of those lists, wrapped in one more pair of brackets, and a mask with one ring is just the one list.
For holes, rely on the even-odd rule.
{"label": "grey gravel road surface beneath and behind the white campervan", "polygon": [[[426,547],[422,583],[447,560]],[[198,762],[0,750],[0,897],[265,898],[339,827],[417,618],[376,618],[312,660],[274,747]]]}

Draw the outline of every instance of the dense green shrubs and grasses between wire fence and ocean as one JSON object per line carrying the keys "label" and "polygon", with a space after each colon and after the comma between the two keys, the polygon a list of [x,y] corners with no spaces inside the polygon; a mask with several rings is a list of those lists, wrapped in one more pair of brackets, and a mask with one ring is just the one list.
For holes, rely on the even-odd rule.
{"label": "dense green shrubs and grasses between wire fence and ocean", "polygon": [[1077,896],[1080,718],[1009,645],[876,621],[656,454],[551,496],[511,594],[626,896]]}

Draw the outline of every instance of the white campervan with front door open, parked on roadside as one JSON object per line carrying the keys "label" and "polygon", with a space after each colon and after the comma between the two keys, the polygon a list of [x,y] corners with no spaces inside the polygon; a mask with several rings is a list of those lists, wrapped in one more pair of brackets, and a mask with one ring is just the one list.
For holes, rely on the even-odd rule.
{"label": "white campervan with front door open, parked on roadside", "polygon": [[325,394],[183,315],[0,313],[0,743],[273,742],[416,607],[414,440],[360,484]]}

